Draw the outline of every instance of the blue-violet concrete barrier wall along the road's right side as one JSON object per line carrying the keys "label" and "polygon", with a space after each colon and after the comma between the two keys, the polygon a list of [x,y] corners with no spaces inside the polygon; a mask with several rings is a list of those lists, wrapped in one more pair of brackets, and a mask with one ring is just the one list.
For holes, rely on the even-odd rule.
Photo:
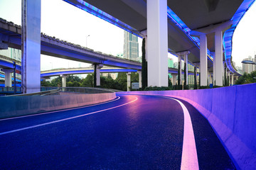
{"label": "blue-violet concrete barrier wall along the road's right side", "polygon": [[[117,93],[119,94],[119,93]],[[204,115],[238,169],[256,167],[256,84],[183,91],[131,91],[181,98]]]}

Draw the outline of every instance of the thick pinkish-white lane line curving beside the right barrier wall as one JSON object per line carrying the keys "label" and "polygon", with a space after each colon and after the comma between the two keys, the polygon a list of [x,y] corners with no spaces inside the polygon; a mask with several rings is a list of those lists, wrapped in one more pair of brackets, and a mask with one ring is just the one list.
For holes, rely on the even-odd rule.
{"label": "thick pinkish-white lane line curving beside the right barrier wall", "polygon": [[[168,98],[168,97],[167,97]],[[176,98],[171,98],[178,101]],[[193,134],[193,126],[191,122],[191,117],[189,115],[188,109],[184,106],[181,101],[178,101],[183,109],[184,113],[184,131],[183,131],[183,147],[182,147],[182,157],[181,157],[181,170],[196,170],[199,169],[198,157],[196,152],[196,141]]]}

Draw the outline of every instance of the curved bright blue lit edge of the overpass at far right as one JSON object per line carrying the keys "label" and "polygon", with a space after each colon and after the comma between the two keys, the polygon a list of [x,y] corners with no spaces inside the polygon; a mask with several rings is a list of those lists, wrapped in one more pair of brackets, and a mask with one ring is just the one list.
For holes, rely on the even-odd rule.
{"label": "curved bright blue lit edge of the overpass at far right", "polygon": [[[233,18],[231,18],[230,21],[233,21],[233,25],[230,29],[226,30],[223,36],[223,46],[224,46],[224,54],[225,54],[225,62],[227,64],[228,69],[230,69],[233,73],[238,73],[231,63],[231,52],[232,52],[232,38],[235,31],[235,28],[238,26],[238,23],[240,22],[242,16],[245,15],[245,12],[252,6],[252,4],[255,2],[255,0],[244,0],[240,7],[238,8],[238,11],[235,12],[235,15]],[[240,74],[240,73],[238,73]]]}

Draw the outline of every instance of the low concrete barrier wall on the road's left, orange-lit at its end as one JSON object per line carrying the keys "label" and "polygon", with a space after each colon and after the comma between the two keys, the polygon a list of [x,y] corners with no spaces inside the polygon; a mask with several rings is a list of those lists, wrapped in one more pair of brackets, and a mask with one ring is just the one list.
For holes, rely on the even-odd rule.
{"label": "low concrete barrier wall on the road's left, orange-lit at its end", "polygon": [[11,118],[110,101],[115,93],[53,96],[1,96],[0,118]]}

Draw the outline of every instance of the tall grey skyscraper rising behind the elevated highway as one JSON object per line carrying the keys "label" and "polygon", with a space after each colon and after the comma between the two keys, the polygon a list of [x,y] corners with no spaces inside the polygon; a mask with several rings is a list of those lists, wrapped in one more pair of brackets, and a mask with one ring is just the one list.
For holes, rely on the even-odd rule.
{"label": "tall grey skyscraper rising behind the elevated highway", "polygon": [[124,30],[124,58],[129,60],[139,60],[138,37]]}

